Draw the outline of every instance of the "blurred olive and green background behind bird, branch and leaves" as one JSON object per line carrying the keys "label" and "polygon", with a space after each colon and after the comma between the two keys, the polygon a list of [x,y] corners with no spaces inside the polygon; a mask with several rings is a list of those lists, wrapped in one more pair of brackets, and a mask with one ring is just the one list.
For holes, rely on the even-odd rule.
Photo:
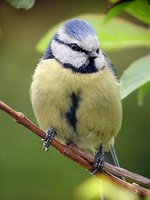
{"label": "blurred olive and green background behind bird, branch and leaves", "polygon": [[[28,11],[0,2],[0,100],[36,123],[29,88],[41,55],[37,42],[54,24],[82,13],[102,13],[104,1],[36,1]],[[123,17],[129,18],[124,15]],[[130,19],[135,22],[132,18]],[[119,74],[148,48],[107,52]],[[134,92],[123,101],[123,124],[116,138],[122,167],[150,177],[150,95],[137,105]],[[82,167],[42,142],[0,111],[0,199],[72,199],[76,187],[90,177]]]}

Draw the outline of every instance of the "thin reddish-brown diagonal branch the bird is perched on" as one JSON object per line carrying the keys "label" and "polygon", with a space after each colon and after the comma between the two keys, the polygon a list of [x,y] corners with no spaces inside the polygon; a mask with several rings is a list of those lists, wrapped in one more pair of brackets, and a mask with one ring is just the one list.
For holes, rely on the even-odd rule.
{"label": "thin reddish-brown diagonal branch the bird is perched on", "polygon": [[[43,139],[45,138],[45,132],[42,131],[41,129],[39,129],[37,126],[35,126],[29,119],[27,119],[24,116],[24,114],[22,114],[20,112],[16,112],[14,109],[9,107],[8,105],[3,103],[2,101],[0,101],[0,109],[2,111],[6,112],[7,114],[9,114],[11,117],[13,117],[17,123],[25,126],[26,128],[31,130],[33,133],[35,133],[39,137],[41,137]],[[55,147],[60,153],[67,156],[71,160],[77,162],[79,165],[86,168],[87,170],[89,170],[89,171],[93,170],[93,167],[92,167],[92,162],[94,160],[93,157],[91,157],[91,156],[85,154],[84,152],[81,152],[80,150],[75,149],[73,147],[62,145],[61,143],[59,143],[55,139],[52,140],[51,145],[53,147]],[[108,164],[106,162],[104,163],[104,172],[114,182],[116,182],[117,184],[122,185],[123,187],[133,191],[134,193],[137,193],[141,196],[145,196],[147,194],[150,194],[150,190],[145,189],[145,188],[138,185],[138,184],[141,184],[141,185],[144,185],[146,187],[149,187],[150,186],[150,179],[148,179],[148,178],[145,178],[141,175],[127,171],[123,168],[113,166],[113,165]],[[126,179],[128,179],[130,181],[134,181],[135,183],[138,183],[138,184],[135,184],[135,183],[130,184],[126,181],[123,181],[123,180],[117,178],[116,176],[113,176],[112,174],[114,174],[116,176],[125,177]]]}

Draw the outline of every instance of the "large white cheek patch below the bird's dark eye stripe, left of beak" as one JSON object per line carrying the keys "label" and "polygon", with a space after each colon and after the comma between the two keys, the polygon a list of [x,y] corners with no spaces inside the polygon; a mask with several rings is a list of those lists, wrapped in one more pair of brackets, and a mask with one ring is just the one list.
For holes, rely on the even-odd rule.
{"label": "large white cheek patch below the bird's dark eye stripe, left of beak", "polygon": [[79,68],[87,62],[87,56],[84,53],[73,51],[70,47],[57,41],[52,41],[51,49],[55,58],[61,63],[71,64]]}

